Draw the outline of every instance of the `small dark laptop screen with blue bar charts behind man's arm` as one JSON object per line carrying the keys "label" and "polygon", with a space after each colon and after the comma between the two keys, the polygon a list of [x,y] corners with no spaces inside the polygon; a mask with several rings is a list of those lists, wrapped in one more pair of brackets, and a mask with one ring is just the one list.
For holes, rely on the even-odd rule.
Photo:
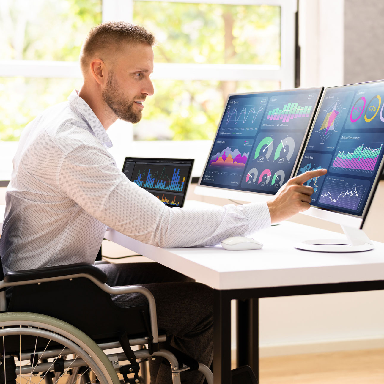
{"label": "small dark laptop screen with blue bar charts behind man's arm", "polygon": [[169,207],[182,207],[193,159],[126,157],[122,172]]}

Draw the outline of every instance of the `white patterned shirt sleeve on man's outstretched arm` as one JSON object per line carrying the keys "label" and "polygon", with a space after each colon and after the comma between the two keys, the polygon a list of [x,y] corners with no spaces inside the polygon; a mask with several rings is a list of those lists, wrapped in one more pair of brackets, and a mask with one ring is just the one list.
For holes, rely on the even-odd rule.
{"label": "white patterned shirt sleeve on man's outstretched arm", "polygon": [[157,247],[216,245],[271,223],[266,203],[170,208],[127,179],[107,151],[86,144],[65,156],[59,185],[63,194],[100,222]]}

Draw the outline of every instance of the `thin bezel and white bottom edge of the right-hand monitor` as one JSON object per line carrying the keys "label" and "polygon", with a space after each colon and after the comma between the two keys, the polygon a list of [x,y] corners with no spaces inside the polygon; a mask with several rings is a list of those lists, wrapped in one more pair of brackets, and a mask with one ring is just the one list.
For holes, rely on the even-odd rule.
{"label": "thin bezel and white bottom edge of the right-hand monitor", "polygon": [[[314,129],[316,119],[320,113],[320,106],[324,101],[324,98],[325,98],[325,95],[326,95],[328,89],[348,88],[348,87],[358,86],[360,84],[375,84],[375,83],[382,83],[384,85],[384,79],[374,80],[374,81],[364,81],[361,83],[353,83],[353,84],[343,84],[343,85],[325,88],[323,91],[323,94],[321,96],[321,100],[318,104],[318,108],[316,110],[316,113],[314,114],[314,119],[312,121],[310,130],[308,132],[306,142],[311,137],[311,133]],[[305,155],[305,148],[303,147],[302,152],[301,152],[300,157],[299,157],[300,160],[296,164],[296,170],[294,173],[295,176],[298,175],[299,167],[300,167],[301,161],[303,160],[304,155]],[[377,185],[379,185],[380,177],[381,177],[383,170],[384,170],[384,156],[382,157],[381,163],[377,169],[376,177],[372,182],[372,188],[371,188],[371,191],[369,192],[369,196],[367,198],[367,202],[365,204],[365,207],[364,207],[364,210],[363,210],[361,216],[349,214],[347,212],[339,212],[339,211],[329,209],[329,208],[318,207],[316,205],[311,205],[311,208],[309,210],[301,212],[301,213],[308,215],[308,216],[321,218],[323,220],[327,220],[330,222],[338,223],[340,225],[345,225],[345,226],[349,226],[349,227],[362,229],[364,222],[366,220],[367,214],[369,212],[369,208],[371,207],[373,197],[376,193]]]}

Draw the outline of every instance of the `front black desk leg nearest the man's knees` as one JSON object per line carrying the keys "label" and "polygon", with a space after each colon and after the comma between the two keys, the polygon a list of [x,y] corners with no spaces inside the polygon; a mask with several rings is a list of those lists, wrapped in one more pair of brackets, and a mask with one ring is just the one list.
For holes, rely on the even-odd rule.
{"label": "front black desk leg nearest the man's knees", "polygon": [[231,382],[231,301],[226,296],[214,290],[214,384]]}

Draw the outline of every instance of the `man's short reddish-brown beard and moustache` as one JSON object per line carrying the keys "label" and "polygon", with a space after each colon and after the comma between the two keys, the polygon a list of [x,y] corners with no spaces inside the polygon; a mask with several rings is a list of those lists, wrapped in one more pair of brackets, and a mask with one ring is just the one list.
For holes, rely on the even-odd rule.
{"label": "man's short reddish-brown beard and moustache", "polygon": [[[134,99],[127,100],[118,86],[114,72],[109,72],[106,88],[103,93],[103,100],[113,113],[121,120],[135,124],[141,120],[141,110],[134,111]],[[141,95],[138,100],[143,101],[145,95]]]}

